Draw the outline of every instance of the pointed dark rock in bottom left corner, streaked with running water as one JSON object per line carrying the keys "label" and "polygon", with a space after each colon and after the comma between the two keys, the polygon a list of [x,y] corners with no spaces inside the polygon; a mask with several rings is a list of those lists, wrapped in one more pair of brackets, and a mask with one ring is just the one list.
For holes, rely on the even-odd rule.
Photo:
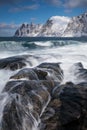
{"label": "pointed dark rock in bottom left corner, streaked with running water", "polygon": [[30,130],[34,126],[34,121],[27,109],[17,101],[14,97],[10,97],[10,101],[6,104],[3,111],[1,130]]}

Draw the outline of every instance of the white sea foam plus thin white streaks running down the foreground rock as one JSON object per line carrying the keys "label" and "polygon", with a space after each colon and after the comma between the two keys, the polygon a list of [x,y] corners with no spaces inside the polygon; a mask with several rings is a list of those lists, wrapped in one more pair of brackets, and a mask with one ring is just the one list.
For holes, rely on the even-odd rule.
{"label": "white sea foam plus thin white streaks running down the foreground rock", "polygon": [[[40,45],[40,46],[50,46],[52,45],[51,42],[35,42],[35,44]],[[29,51],[2,51],[0,52],[0,57],[5,58],[9,56],[15,56],[15,55],[23,55],[23,54],[33,54],[35,56],[41,57],[40,59],[35,57],[31,57],[27,60],[30,60],[32,63],[32,67],[37,66],[38,64],[42,62],[61,62],[61,68],[64,71],[64,80],[62,83],[65,83],[67,81],[72,81],[74,83],[79,82],[75,80],[74,75],[72,75],[70,71],[70,67],[76,63],[76,62],[81,62],[85,68],[87,68],[87,43],[80,43],[80,44],[72,44],[72,45],[66,45],[66,46],[61,46],[58,47],[56,46],[55,48],[50,48],[50,49],[43,49],[43,50],[29,50]],[[27,65],[27,67],[30,67]],[[0,101],[1,104],[1,111],[0,111],[0,119],[2,118],[2,112],[4,105],[7,101],[8,95],[2,95],[2,90],[5,86],[5,84],[8,82],[9,77],[14,75],[16,71],[10,71],[10,70],[0,70],[0,97],[3,97],[3,100]],[[25,80],[25,79],[24,79]],[[48,102],[50,101],[50,97]],[[44,112],[47,104],[43,107],[42,113]],[[41,115],[42,115],[41,113]],[[34,119],[35,120],[35,119]],[[25,122],[24,122],[25,123]],[[35,120],[34,127],[32,130],[38,130],[38,124],[39,122]]]}

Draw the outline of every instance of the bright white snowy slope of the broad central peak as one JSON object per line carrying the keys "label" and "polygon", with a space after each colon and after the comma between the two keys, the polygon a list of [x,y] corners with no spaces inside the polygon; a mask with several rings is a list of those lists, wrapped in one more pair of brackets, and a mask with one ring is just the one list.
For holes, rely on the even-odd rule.
{"label": "bright white snowy slope of the broad central peak", "polygon": [[52,16],[43,25],[39,36],[61,36],[69,22],[69,17],[64,16]]}

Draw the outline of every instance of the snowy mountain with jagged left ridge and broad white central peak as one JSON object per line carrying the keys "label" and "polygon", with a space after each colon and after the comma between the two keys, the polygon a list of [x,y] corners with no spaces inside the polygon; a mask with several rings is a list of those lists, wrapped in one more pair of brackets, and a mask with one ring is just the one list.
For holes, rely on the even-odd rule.
{"label": "snowy mountain with jagged left ridge and broad white central peak", "polygon": [[45,24],[22,24],[15,32],[17,37],[61,36],[69,22],[69,17],[52,16]]}

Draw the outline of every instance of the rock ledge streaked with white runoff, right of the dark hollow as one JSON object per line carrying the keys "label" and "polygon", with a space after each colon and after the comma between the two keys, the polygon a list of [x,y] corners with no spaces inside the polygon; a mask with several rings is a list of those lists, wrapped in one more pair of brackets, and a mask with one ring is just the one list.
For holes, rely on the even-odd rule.
{"label": "rock ledge streaked with white runoff, right of the dark hollow", "polygon": [[48,72],[47,79],[51,78],[57,82],[63,80],[63,70],[60,68],[60,63],[42,63],[38,68],[43,68],[44,71]]}

